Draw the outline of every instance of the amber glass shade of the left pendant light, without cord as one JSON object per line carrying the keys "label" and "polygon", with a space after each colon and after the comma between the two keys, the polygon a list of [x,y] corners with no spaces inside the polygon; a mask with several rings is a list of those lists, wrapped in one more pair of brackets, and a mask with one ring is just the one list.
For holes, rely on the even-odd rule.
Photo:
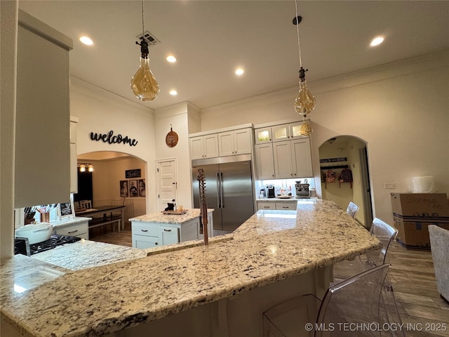
{"label": "amber glass shade of the left pendant light, without cord", "polygon": [[131,79],[131,90],[138,100],[155,100],[159,84],[149,69],[149,58],[140,58],[140,67]]}

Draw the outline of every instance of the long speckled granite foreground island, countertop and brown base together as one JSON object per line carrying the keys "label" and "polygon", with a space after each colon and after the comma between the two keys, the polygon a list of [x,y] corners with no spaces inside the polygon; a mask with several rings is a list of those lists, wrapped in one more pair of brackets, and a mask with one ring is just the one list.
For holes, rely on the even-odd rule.
{"label": "long speckled granite foreground island, countertop and brown base together", "polygon": [[[331,201],[258,211],[230,236],[77,271],[3,261],[2,336],[261,336],[264,310],[323,293],[333,263],[380,247]],[[15,287],[43,267],[41,284]]]}

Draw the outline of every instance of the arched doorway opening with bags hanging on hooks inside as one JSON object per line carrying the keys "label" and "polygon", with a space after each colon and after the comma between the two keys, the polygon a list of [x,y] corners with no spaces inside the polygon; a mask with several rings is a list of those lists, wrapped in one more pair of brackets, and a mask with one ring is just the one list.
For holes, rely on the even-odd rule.
{"label": "arched doorway opening with bags hanging on hooks inside", "polygon": [[[373,222],[373,203],[366,142],[354,136],[335,136],[321,144],[319,157],[323,199],[335,201],[342,209],[353,201],[360,207],[356,220],[369,228]],[[339,179],[345,169],[351,170],[350,182]]]}

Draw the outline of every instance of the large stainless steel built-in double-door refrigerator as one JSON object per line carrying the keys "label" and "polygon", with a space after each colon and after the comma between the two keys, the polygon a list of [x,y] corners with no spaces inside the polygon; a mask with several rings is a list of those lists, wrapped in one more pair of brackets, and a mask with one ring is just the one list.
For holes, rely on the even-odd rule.
{"label": "large stainless steel built-in double-door refrigerator", "polygon": [[[229,162],[232,160],[232,162]],[[194,207],[200,208],[196,175],[206,176],[206,201],[213,212],[216,234],[232,232],[254,214],[253,178],[249,155],[196,159],[192,161]],[[220,233],[224,231],[223,233]]]}

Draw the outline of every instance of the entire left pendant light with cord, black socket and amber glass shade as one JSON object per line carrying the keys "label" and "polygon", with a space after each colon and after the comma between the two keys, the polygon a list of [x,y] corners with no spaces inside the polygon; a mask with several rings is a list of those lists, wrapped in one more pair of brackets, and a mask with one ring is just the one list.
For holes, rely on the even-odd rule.
{"label": "entire left pendant light with cord, black socket and amber glass shade", "polygon": [[159,93],[159,84],[152,71],[149,69],[149,51],[148,43],[145,41],[143,1],[144,0],[142,0],[142,41],[140,41],[140,44],[137,41],[135,42],[135,44],[140,45],[140,67],[131,79],[131,90],[138,100],[148,101],[156,99]]}

